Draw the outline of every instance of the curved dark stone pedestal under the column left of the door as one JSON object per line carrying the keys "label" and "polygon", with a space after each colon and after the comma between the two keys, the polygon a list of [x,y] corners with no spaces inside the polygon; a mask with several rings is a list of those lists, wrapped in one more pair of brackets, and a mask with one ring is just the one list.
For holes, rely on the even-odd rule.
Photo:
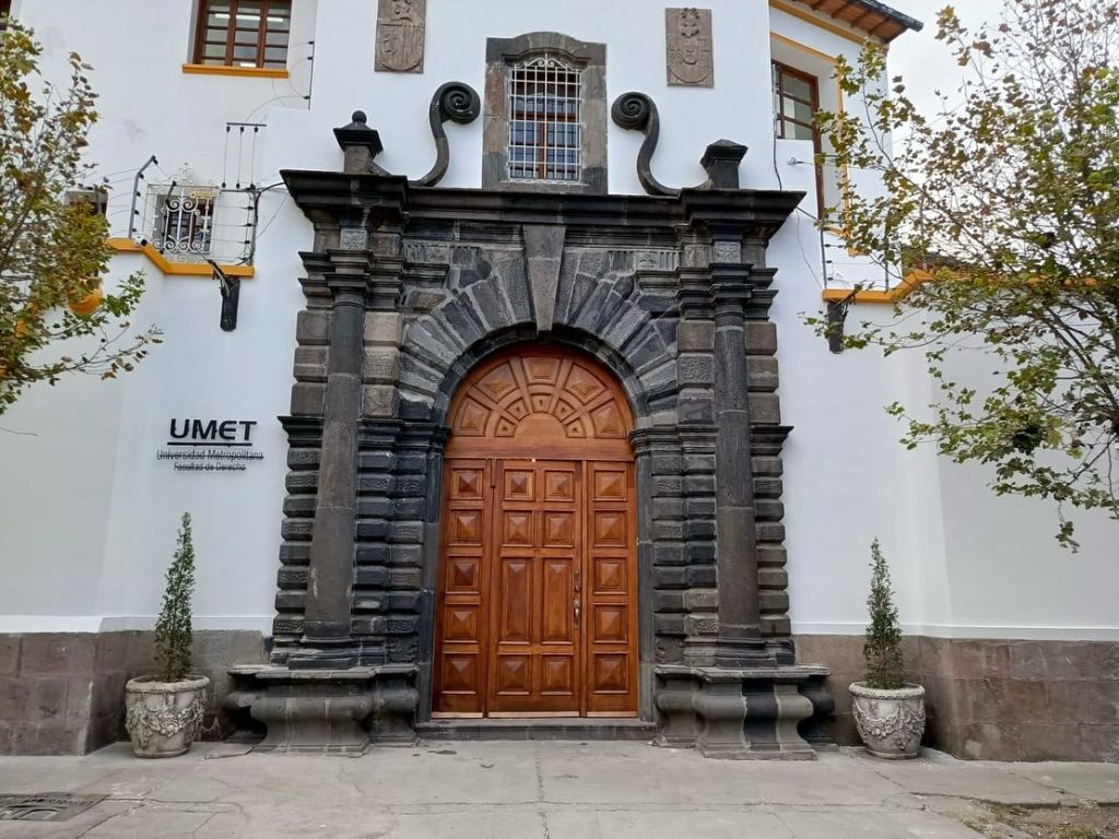
{"label": "curved dark stone pedestal under the column left of the door", "polygon": [[235,667],[236,705],[265,727],[262,751],[360,754],[415,742],[416,668]]}

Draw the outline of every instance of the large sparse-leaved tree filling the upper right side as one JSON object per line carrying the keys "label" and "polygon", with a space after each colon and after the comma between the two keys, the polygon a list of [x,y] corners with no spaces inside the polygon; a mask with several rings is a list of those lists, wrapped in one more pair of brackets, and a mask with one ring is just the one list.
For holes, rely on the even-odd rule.
{"label": "large sparse-leaved tree filling the upper right side", "polygon": [[[924,417],[890,407],[903,442],[986,464],[998,494],[1056,502],[1075,547],[1069,507],[1119,520],[1119,2],[1007,0],[978,30],[948,7],[938,23],[961,68],[938,113],[867,45],[836,70],[859,104],[817,117],[828,162],[883,185],[848,187],[824,224],[895,276],[931,274],[844,342],[923,351],[939,398]],[[952,373],[970,350],[986,384]]]}

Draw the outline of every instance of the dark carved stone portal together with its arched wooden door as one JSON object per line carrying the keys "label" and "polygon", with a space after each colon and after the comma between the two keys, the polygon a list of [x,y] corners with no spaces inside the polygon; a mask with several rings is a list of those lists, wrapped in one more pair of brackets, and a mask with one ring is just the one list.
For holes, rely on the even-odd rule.
{"label": "dark carved stone portal together with its arched wooden door", "polygon": [[[712,756],[810,757],[806,737],[830,700],[824,669],[793,664],[781,524],[790,428],[765,266],[800,194],[739,189],[727,160],[745,150],[726,143],[704,157],[707,183],[665,197],[441,189],[373,163],[380,142],[364,119],[336,134],[345,171],[284,172],[316,235],[302,254],[307,309],[283,417],[291,471],[275,645],[270,667],[235,670],[231,707],[265,724],[274,747],[406,742],[433,710],[538,705],[636,710],[661,742]],[[561,389],[535,393],[513,361],[533,352],[585,376],[568,368]],[[502,359],[506,379],[487,379]],[[497,393],[502,384],[516,390]],[[581,390],[610,396],[589,405]],[[495,446],[466,452],[476,474],[454,450],[470,428]],[[534,436],[571,443],[576,431],[611,453],[514,451]],[[491,483],[489,507],[476,492],[480,515],[457,520],[479,480]],[[563,500],[565,480],[574,494]],[[632,494],[608,499],[610,487]],[[518,511],[530,513],[527,535],[501,521]],[[476,534],[486,528],[501,534],[500,550]],[[603,546],[617,539],[617,554],[601,556],[636,567],[624,602],[587,593],[610,563],[594,568],[562,549],[574,528]],[[527,541],[508,554],[505,591],[471,588],[463,566],[451,598],[458,559],[490,550],[492,576],[492,552],[500,565],[517,538]],[[577,620],[615,644],[598,659],[574,631],[576,573]],[[476,620],[477,632],[492,631],[492,605],[488,618],[469,614],[485,596],[534,600],[482,644],[466,635]],[[525,622],[545,619],[555,623]]]}

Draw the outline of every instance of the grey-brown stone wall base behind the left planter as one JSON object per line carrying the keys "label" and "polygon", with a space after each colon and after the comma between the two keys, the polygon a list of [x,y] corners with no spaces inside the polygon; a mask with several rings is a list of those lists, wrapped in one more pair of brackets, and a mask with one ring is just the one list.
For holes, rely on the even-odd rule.
{"label": "grey-brown stone wall base behind the left planter", "polygon": [[[234,663],[267,660],[258,632],[195,632],[210,679],[203,737],[227,734],[219,709]],[[151,632],[0,634],[0,755],[86,754],[125,739],[124,684],[150,675]]]}

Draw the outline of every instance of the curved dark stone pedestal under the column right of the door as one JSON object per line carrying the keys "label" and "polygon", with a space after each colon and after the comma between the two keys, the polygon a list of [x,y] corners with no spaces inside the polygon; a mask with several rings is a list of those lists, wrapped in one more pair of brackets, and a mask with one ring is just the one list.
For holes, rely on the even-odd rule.
{"label": "curved dark stone pedestal under the column right of the door", "polygon": [[816,758],[798,726],[826,707],[819,696],[826,668],[668,664],[656,675],[658,745],[718,760]]}

